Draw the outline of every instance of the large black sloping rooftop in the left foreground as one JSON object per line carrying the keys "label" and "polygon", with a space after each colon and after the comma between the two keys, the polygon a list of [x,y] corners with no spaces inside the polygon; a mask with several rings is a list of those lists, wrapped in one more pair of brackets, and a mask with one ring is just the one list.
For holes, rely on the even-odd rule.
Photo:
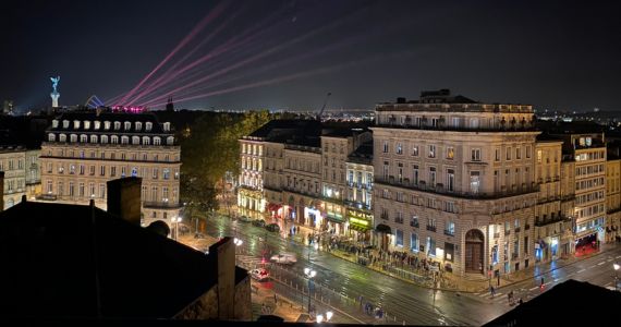
{"label": "large black sloping rooftop in the left foreground", "polygon": [[3,317],[171,318],[218,278],[212,256],[94,206],[0,213],[0,257]]}

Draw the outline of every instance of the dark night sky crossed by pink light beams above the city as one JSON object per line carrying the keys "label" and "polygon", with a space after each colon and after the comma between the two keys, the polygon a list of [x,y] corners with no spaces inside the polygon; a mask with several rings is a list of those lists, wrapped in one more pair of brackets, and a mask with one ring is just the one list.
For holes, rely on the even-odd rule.
{"label": "dark night sky crossed by pink light beams above the city", "polygon": [[328,108],[373,109],[451,88],[621,110],[619,2],[539,2],[2,1],[0,100],[49,106],[60,75],[61,105],[316,110],[330,92]]}

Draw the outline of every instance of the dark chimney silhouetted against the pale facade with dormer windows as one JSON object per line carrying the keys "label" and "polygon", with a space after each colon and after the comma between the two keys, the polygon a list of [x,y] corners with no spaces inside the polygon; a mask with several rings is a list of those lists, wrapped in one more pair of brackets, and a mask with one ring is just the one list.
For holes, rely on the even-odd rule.
{"label": "dark chimney silhouetted against the pale facade with dormer windows", "polygon": [[108,213],[141,226],[141,178],[108,181]]}

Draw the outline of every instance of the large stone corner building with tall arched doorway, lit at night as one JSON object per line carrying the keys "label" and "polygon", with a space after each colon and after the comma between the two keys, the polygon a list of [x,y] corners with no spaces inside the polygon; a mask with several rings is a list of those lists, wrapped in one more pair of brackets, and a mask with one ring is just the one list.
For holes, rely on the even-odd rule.
{"label": "large stone corner building with tall arched doorway, lit at night", "polygon": [[509,274],[537,201],[531,106],[450,92],[376,106],[374,217],[378,245],[448,270]]}

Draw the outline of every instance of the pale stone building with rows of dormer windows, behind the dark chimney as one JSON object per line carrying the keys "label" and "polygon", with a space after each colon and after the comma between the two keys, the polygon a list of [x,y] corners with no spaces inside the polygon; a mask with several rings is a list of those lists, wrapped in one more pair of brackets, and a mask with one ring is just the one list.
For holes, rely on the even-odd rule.
{"label": "pale stone building with rows of dormer windows, behind the dark chimney", "polygon": [[180,215],[181,149],[169,122],[151,113],[68,112],[41,145],[41,201],[106,208],[106,182],[142,178],[143,225]]}

